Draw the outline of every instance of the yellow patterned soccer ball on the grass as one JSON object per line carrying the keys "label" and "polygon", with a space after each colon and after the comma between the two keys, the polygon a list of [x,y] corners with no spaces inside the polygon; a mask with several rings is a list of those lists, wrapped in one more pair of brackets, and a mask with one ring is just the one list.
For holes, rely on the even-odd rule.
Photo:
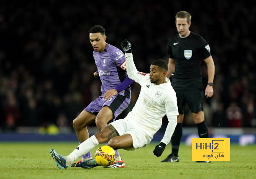
{"label": "yellow patterned soccer ball on the grass", "polygon": [[115,150],[110,146],[101,146],[95,152],[95,160],[101,166],[110,166],[115,162]]}

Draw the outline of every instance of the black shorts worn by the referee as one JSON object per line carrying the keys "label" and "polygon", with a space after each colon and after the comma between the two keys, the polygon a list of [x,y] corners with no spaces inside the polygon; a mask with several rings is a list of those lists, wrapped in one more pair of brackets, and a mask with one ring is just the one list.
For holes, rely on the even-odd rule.
{"label": "black shorts worn by the referee", "polygon": [[201,77],[174,78],[172,87],[176,92],[179,114],[184,113],[185,103],[187,103],[192,113],[203,111],[204,91]]}

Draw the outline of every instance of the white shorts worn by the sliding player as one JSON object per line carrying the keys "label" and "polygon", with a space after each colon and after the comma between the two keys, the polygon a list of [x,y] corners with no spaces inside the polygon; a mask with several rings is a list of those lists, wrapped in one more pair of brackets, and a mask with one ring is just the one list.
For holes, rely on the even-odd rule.
{"label": "white shorts worn by the sliding player", "polygon": [[141,147],[146,147],[152,140],[150,136],[144,134],[141,129],[139,129],[139,126],[134,124],[132,120],[128,121],[127,118],[119,119],[110,124],[115,128],[116,131],[118,131],[120,136],[124,134],[130,134],[132,136],[133,147],[125,150],[135,150]]}

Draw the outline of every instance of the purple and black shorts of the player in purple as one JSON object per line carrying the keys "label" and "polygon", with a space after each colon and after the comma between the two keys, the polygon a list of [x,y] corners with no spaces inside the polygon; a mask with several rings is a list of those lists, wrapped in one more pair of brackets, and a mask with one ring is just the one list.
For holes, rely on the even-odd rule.
{"label": "purple and black shorts of the player in purple", "polygon": [[86,108],[84,108],[84,110],[97,116],[102,107],[109,106],[114,114],[113,121],[115,121],[115,118],[129,106],[130,102],[130,98],[126,98],[120,94],[112,96],[108,101],[104,101],[104,94],[102,94],[97,99],[92,101]]}

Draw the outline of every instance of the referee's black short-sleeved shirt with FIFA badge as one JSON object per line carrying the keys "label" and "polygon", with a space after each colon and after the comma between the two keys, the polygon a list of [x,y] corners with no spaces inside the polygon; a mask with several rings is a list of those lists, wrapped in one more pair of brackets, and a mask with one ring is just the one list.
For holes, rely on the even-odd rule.
{"label": "referee's black short-sleeved shirt with FIFA badge", "polygon": [[175,60],[174,78],[180,79],[201,77],[201,61],[211,55],[205,39],[192,32],[185,38],[169,38],[167,52]]}

